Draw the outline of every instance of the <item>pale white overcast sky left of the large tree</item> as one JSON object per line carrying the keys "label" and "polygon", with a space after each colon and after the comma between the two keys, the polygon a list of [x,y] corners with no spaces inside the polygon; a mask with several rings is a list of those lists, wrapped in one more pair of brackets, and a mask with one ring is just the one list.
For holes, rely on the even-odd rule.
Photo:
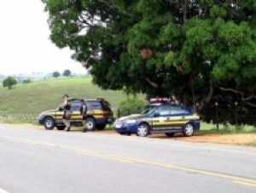
{"label": "pale white overcast sky left of the large tree", "polygon": [[70,59],[69,49],[50,42],[47,18],[40,0],[0,1],[0,74],[66,69],[85,73]]}

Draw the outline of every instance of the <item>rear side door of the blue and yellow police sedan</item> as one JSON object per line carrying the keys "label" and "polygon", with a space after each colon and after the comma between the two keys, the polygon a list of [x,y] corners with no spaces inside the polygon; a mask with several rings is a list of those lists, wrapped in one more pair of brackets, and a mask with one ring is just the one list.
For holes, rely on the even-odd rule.
{"label": "rear side door of the blue and yellow police sedan", "polygon": [[172,129],[180,129],[187,122],[186,116],[188,115],[184,113],[182,106],[172,105],[170,117]]}

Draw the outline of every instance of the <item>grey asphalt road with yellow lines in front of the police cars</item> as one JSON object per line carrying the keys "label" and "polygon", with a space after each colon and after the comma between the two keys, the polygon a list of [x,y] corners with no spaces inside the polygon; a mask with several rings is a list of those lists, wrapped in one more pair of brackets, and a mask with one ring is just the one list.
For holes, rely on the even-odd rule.
{"label": "grey asphalt road with yellow lines in front of the police cars", "polygon": [[256,148],[0,126],[0,193],[256,192]]}

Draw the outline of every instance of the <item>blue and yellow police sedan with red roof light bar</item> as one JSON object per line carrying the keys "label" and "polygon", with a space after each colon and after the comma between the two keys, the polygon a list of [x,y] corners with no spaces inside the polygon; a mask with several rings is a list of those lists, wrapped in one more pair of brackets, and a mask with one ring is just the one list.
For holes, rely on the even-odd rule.
{"label": "blue and yellow police sedan with red roof light bar", "polygon": [[190,137],[200,129],[200,117],[183,105],[171,104],[169,99],[151,99],[136,114],[122,116],[113,123],[113,129],[120,134],[146,137],[151,133],[183,133]]}

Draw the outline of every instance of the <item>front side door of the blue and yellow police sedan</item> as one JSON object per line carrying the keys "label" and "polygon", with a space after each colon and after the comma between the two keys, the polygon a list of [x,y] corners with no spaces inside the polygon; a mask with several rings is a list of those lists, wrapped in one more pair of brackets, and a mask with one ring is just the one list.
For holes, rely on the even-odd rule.
{"label": "front side door of the blue and yellow police sedan", "polygon": [[171,129],[169,118],[171,115],[171,106],[160,105],[160,107],[155,111],[154,118],[153,118],[153,130],[160,131],[160,130],[168,130]]}

